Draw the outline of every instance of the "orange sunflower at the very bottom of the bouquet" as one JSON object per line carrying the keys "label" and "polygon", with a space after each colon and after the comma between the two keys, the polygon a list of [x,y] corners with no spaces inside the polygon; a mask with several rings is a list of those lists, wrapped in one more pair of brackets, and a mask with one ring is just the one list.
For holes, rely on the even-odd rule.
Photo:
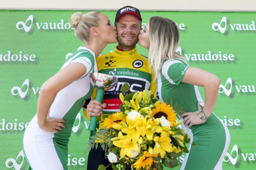
{"label": "orange sunflower at the very bottom of the bouquet", "polygon": [[152,157],[157,157],[157,154],[150,154],[147,151],[144,151],[143,155],[133,164],[136,170],[141,169],[141,167],[145,168],[146,166],[152,165],[152,163],[157,163]]}

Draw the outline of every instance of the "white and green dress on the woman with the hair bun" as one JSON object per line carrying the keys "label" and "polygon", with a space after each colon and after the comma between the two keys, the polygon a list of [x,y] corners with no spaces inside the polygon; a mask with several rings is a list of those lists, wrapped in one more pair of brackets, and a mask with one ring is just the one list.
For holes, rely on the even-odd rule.
{"label": "white and green dress on the woman with the hair bun", "polygon": [[95,54],[88,48],[79,47],[61,69],[74,62],[84,64],[87,71],[82,77],[57,93],[49,112],[49,117],[65,120],[63,131],[53,133],[40,129],[37,123],[37,114],[25,130],[23,151],[33,170],[67,169],[68,141],[71,130],[83,101],[93,92],[89,73],[97,72]]}

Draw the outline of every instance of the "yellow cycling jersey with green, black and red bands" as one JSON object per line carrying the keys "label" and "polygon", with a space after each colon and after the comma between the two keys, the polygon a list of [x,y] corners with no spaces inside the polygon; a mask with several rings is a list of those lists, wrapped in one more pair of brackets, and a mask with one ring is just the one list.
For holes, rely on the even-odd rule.
{"label": "yellow cycling jersey with green, black and red bands", "polygon": [[[99,73],[114,75],[118,78],[117,84],[104,92],[103,103],[107,104],[104,114],[120,111],[119,93],[121,93],[121,86],[125,83],[130,86],[128,94],[147,89],[152,90],[152,94],[156,96],[156,82],[153,82],[154,75],[148,67],[148,60],[139,54],[136,48],[131,51],[119,51],[116,47],[115,51],[98,56],[96,63]],[[95,96],[96,90],[92,98],[95,99]],[[87,116],[86,113],[85,116]]]}

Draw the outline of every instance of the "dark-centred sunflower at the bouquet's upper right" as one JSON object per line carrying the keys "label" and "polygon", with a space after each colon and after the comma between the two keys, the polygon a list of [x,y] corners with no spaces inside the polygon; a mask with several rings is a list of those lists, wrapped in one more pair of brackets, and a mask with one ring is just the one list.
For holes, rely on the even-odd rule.
{"label": "dark-centred sunflower at the bouquet's upper right", "polygon": [[176,114],[173,110],[173,107],[166,105],[166,103],[162,102],[161,104],[157,103],[156,108],[152,109],[152,113],[150,114],[150,118],[161,118],[164,116],[169,122],[171,122],[171,127],[176,122]]}

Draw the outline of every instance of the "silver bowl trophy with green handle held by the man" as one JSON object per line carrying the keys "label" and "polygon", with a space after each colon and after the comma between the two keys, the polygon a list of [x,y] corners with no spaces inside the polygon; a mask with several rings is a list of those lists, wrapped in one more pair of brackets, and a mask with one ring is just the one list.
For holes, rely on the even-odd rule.
{"label": "silver bowl trophy with green handle held by the man", "polygon": [[[96,99],[100,103],[103,101],[104,90],[109,90],[117,83],[117,77],[102,73],[90,73],[90,82],[97,89]],[[92,116],[89,123],[89,130],[96,130],[97,119]]]}

